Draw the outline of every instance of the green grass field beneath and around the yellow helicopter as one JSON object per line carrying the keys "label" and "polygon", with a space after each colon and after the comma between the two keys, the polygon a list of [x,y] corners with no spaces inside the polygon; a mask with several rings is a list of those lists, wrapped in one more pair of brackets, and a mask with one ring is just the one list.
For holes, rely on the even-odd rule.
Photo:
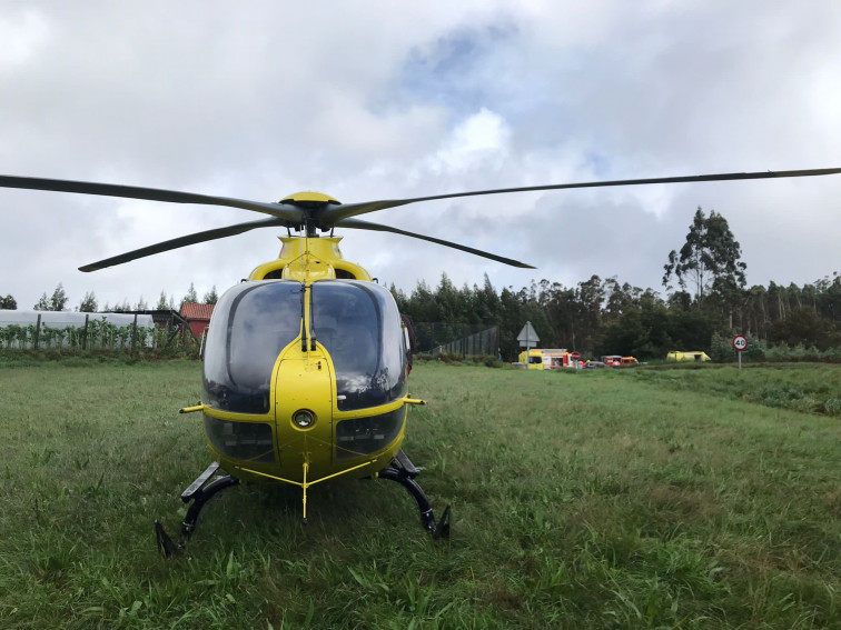
{"label": "green grass field beneath and around the yellow helicopter", "polygon": [[839,366],[410,382],[405,450],[448,542],[394,483],[317,486],[307,526],[259,486],[167,561],[152,521],[176,529],[209,462],[177,413],[199,366],[4,363],[0,628],[841,628]]}

